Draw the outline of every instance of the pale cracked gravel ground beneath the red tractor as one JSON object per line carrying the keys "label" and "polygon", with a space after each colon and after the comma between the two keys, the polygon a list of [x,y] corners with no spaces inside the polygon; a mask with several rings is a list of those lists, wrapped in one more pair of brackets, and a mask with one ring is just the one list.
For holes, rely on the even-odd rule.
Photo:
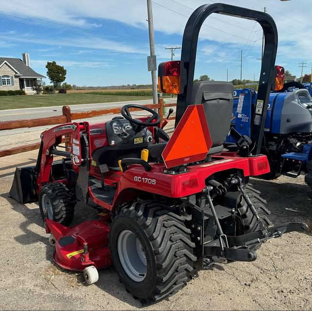
{"label": "pale cracked gravel ground beneath the red tractor", "polygon": [[[8,197],[16,166],[34,163],[36,151],[0,158],[0,309],[1,310],[311,310],[312,236],[284,234],[258,251],[252,263],[216,264],[168,300],[142,306],[119,283],[112,268],[99,272],[91,286],[80,273],[53,263],[53,247],[36,203]],[[300,176],[273,181],[253,179],[268,200],[275,224],[312,223],[309,188]],[[95,210],[78,205],[75,222]]]}

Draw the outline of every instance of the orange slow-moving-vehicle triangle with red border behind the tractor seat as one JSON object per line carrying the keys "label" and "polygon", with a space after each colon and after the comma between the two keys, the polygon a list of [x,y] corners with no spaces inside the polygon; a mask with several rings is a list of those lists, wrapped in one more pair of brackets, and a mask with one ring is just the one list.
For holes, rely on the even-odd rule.
{"label": "orange slow-moving-vehicle triangle with red border behind the tractor seat", "polygon": [[190,105],[161,156],[167,168],[203,160],[212,146],[203,105]]}

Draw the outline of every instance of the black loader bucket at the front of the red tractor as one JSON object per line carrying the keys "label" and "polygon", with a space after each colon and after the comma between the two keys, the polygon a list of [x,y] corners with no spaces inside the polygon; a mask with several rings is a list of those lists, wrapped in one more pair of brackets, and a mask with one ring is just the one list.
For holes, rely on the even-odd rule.
{"label": "black loader bucket at the front of the red tractor", "polygon": [[17,167],[9,195],[20,203],[37,201],[35,166]]}

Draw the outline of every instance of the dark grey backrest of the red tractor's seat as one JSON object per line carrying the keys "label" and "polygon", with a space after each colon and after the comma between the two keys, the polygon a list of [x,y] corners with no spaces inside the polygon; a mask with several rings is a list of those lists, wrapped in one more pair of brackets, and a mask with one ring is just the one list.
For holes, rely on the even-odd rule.
{"label": "dark grey backrest of the red tractor's seat", "polygon": [[209,154],[223,150],[231,126],[233,95],[230,82],[199,81],[193,85],[191,104],[203,104],[213,142]]}

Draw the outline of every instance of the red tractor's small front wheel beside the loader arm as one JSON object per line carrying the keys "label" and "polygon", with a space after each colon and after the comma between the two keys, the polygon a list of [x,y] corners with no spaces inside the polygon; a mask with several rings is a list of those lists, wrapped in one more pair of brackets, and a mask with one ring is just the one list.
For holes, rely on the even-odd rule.
{"label": "red tractor's small front wheel beside the loader arm", "polygon": [[74,218],[76,199],[62,183],[51,183],[39,192],[39,209],[44,220],[44,211],[48,218],[68,226]]}

